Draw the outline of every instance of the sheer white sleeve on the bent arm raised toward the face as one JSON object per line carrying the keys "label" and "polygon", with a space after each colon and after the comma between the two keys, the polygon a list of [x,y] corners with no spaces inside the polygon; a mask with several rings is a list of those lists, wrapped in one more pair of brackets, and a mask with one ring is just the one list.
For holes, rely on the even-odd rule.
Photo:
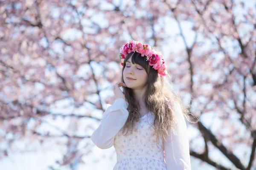
{"label": "sheer white sleeve on the bent arm raised toward the face", "polygon": [[128,103],[122,98],[116,99],[113,105],[107,105],[101,124],[91,137],[97,147],[108,149],[113,146],[116,134],[125,125],[128,118],[127,107]]}

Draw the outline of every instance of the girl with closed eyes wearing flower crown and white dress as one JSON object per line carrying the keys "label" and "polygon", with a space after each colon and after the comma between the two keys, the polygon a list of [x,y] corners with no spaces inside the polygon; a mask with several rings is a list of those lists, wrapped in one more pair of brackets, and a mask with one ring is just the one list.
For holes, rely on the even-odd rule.
{"label": "girl with closed eyes wearing flower crown and white dress", "polygon": [[122,79],[113,88],[116,100],[103,113],[93,143],[101,149],[114,146],[113,170],[190,170],[183,116],[188,110],[164,78],[163,56],[131,40],[121,48],[120,59]]}

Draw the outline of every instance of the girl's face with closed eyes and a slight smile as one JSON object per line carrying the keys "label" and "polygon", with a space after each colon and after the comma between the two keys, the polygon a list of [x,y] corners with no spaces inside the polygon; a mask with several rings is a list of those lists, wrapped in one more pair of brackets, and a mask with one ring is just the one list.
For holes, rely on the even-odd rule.
{"label": "girl's face with closed eyes and a slight smile", "polygon": [[[128,77],[132,79],[129,79]],[[148,75],[141,65],[133,64],[130,57],[126,62],[123,78],[125,85],[128,88],[141,89],[147,84]]]}

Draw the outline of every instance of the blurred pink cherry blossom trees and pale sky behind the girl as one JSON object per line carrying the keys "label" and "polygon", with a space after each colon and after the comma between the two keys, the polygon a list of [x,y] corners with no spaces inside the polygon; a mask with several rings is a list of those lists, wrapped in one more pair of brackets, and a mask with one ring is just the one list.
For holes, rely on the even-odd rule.
{"label": "blurred pink cherry blossom trees and pale sky behind the girl", "polygon": [[256,170],[255,0],[0,0],[0,169],[112,170],[90,136],[132,39],[199,116],[192,170]]}

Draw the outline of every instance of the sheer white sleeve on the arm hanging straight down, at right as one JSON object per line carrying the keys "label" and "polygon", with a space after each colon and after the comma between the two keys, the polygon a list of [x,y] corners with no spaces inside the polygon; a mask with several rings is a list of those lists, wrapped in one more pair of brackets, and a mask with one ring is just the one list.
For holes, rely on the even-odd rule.
{"label": "sheer white sleeve on the arm hanging straight down, at right", "polygon": [[191,170],[187,127],[179,104],[174,105],[174,112],[177,134],[170,130],[164,141],[167,170]]}

